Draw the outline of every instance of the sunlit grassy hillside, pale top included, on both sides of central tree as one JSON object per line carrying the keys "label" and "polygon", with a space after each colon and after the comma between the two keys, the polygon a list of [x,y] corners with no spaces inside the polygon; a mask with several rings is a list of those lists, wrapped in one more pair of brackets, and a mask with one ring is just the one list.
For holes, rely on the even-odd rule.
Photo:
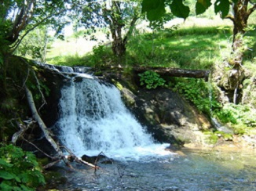
{"label": "sunlit grassy hillside, pale top included, on both sides of central tree", "polygon": [[[169,25],[164,31],[136,34],[130,39],[126,65],[209,69],[226,56],[225,52],[229,52],[232,40],[232,23],[229,20],[191,18],[175,23],[178,23],[176,31],[171,30]],[[252,35],[255,40],[256,34]],[[107,41],[102,34],[99,38]],[[49,50],[47,62],[89,66],[104,64],[104,60],[112,63],[109,47],[97,49],[97,55],[93,58],[90,52],[98,44],[96,41],[71,37],[66,41],[56,41]],[[255,56],[254,52],[247,54],[251,58]]]}

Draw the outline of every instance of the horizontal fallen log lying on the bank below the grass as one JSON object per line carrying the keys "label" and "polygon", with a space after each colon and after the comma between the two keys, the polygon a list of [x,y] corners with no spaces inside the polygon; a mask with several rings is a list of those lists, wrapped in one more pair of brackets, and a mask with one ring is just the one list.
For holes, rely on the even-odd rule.
{"label": "horizontal fallen log lying on the bank below the grass", "polygon": [[134,67],[134,72],[142,73],[147,70],[154,71],[157,74],[170,76],[170,77],[194,77],[194,78],[204,78],[208,81],[210,70],[186,70],[180,68],[171,67]]}

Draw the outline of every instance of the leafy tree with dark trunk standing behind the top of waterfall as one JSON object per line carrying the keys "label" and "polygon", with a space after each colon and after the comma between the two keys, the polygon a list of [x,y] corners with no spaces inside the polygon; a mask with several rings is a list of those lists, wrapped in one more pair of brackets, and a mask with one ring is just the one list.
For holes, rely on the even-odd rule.
{"label": "leafy tree with dark trunk standing behind the top of waterfall", "polygon": [[112,51],[123,58],[126,44],[137,20],[141,16],[141,4],[136,1],[88,2],[82,13],[82,23],[96,31],[96,27],[108,27],[112,34]]}

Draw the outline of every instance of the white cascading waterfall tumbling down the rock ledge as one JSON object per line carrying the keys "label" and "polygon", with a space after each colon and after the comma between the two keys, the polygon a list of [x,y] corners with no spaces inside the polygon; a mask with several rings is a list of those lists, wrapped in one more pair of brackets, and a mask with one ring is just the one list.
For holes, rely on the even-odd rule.
{"label": "white cascading waterfall tumbling down the rock ledge", "polygon": [[161,152],[166,146],[154,144],[126,109],[115,86],[94,79],[83,78],[64,86],[56,125],[64,145],[79,155],[102,151],[112,157],[134,157],[134,153]]}

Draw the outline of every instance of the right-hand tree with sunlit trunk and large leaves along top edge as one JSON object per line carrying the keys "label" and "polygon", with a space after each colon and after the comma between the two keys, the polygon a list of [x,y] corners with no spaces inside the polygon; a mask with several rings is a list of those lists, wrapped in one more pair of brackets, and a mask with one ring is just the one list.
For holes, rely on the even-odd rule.
{"label": "right-hand tree with sunlit trunk and large leaves along top edge", "polygon": [[[204,13],[212,5],[210,0],[196,1],[196,15]],[[143,0],[142,12],[147,14],[148,20],[159,20],[164,13],[165,7],[170,6],[174,16],[186,19],[189,15],[189,7],[182,0]],[[232,38],[232,59],[229,64],[232,69],[229,70],[229,85],[226,85],[225,91],[232,91],[229,100],[237,103],[239,96],[239,87],[243,82],[243,52],[246,50],[244,45],[244,34],[247,31],[247,20],[251,13],[256,9],[255,0],[216,0],[214,2],[214,12],[220,13],[221,18],[229,18],[233,22],[233,38]]]}

